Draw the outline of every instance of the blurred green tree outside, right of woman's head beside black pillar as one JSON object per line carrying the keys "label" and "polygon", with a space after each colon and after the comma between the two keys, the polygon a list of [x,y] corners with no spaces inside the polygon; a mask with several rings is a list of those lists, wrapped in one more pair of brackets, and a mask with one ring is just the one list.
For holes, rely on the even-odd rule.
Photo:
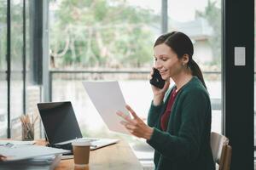
{"label": "blurred green tree outside, right of woman's head beside black pillar", "polygon": [[212,26],[212,36],[209,37],[210,47],[212,48],[212,65],[221,66],[221,8],[218,8],[216,1],[208,0],[207,7],[203,12],[196,11],[195,17],[205,18],[209,25]]}

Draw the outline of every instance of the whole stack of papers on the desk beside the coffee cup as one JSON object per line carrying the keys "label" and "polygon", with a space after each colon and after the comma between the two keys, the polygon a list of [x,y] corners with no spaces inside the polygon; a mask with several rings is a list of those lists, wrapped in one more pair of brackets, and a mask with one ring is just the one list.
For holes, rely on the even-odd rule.
{"label": "whole stack of papers on the desk beside the coffee cup", "polygon": [[[0,161],[0,169],[54,169],[60,162],[61,155],[69,153],[70,150],[62,150],[32,144],[6,144],[1,141],[0,155],[6,156]],[[20,141],[22,143],[22,141]]]}

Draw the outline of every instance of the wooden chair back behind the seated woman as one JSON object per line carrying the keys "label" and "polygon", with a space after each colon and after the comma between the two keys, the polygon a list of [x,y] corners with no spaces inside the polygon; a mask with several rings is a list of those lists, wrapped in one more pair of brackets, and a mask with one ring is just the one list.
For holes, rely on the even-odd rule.
{"label": "wooden chair back behind the seated woman", "polygon": [[218,164],[218,170],[230,170],[232,148],[229,139],[219,133],[211,133],[211,148],[213,161]]}

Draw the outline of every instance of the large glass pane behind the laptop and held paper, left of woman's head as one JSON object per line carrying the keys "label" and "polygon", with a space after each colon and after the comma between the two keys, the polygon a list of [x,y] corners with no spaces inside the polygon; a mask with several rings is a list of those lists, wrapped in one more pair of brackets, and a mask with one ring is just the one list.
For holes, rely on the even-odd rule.
{"label": "large glass pane behind the laptop and held paper, left of woman's head", "polygon": [[[153,63],[154,39],[160,34],[160,2],[153,0],[51,1],[49,4],[50,67],[84,70],[54,74],[52,99],[71,100],[84,136],[139,139],[108,131],[82,87],[84,80],[118,80],[127,103],[147,117],[152,92],[147,80]],[[99,74],[91,71],[146,71]],[[139,90],[144,94],[131,94]],[[63,93],[65,92],[65,93]],[[146,99],[146,100],[145,100]],[[136,104],[134,102],[137,102]],[[150,157],[152,158],[152,150]]]}

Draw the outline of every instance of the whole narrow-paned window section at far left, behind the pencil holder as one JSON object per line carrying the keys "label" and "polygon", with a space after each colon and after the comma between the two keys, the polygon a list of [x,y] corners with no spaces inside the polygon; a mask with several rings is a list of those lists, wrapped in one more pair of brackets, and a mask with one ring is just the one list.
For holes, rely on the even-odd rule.
{"label": "whole narrow-paned window section at far left, behind the pencil holder", "polygon": [[[34,88],[29,78],[31,6],[28,0],[0,2],[0,137],[21,139],[20,116],[34,114],[36,110],[32,109],[32,106],[35,108],[40,100],[40,89],[37,87],[36,91],[32,90]],[[8,4],[10,11],[7,10]],[[8,15],[9,20],[7,20]],[[10,30],[10,41],[7,37],[8,30]],[[7,55],[9,48],[10,55]],[[10,70],[7,65],[10,65]],[[8,71],[9,75],[7,75]],[[7,79],[8,76],[10,79]],[[10,136],[7,133],[8,124]],[[39,128],[36,127],[36,138],[38,137]]]}

